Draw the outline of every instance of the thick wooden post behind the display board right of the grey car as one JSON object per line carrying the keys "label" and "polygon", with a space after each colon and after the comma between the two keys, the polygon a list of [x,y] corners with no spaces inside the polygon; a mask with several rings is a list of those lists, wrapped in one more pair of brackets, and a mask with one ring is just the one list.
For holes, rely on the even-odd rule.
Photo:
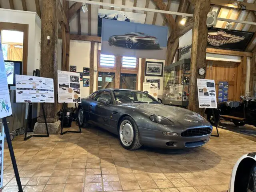
{"label": "thick wooden post behind the display board right of the grey car", "polygon": [[198,78],[204,78],[198,74],[199,68],[206,69],[206,46],[208,29],[206,26],[207,13],[210,10],[210,0],[197,0],[194,10],[194,25],[192,33],[192,52],[190,65],[190,90],[188,109],[204,114],[204,109],[198,104]]}

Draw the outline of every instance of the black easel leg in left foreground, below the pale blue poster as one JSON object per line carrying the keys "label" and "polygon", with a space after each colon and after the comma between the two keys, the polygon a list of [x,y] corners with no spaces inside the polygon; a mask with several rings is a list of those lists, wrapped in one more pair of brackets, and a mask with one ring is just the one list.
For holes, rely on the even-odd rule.
{"label": "black easel leg in left foreground, below the pale blue poster", "polygon": [[[12,166],[13,166],[16,182],[17,182],[17,185],[18,185],[18,190],[19,190],[18,192],[23,192],[22,185],[21,185],[21,182],[20,182],[20,175],[19,175],[16,159],[15,159],[14,151],[13,151],[13,148],[12,148],[12,141],[10,139],[10,132],[9,132],[8,124],[7,124],[7,121],[6,121],[5,117],[2,118],[2,123],[4,125],[4,132],[5,132],[5,136],[6,136],[6,141],[7,141],[7,144],[8,144],[9,151],[10,151]],[[2,150],[4,150],[4,148],[2,148]]]}

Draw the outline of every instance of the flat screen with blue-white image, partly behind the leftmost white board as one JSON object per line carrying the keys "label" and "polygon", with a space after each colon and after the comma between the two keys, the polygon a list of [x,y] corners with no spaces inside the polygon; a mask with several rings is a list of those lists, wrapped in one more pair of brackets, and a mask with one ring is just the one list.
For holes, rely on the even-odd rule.
{"label": "flat screen with blue-white image, partly behind the leftmost white board", "polygon": [[5,70],[9,86],[15,86],[15,75],[22,75],[22,62],[5,60]]}

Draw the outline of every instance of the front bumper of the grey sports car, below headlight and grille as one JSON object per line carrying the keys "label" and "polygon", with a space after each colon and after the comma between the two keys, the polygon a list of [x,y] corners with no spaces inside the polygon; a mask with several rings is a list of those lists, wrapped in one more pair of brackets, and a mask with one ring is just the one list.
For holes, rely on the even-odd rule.
{"label": "front bumper of the grey sports car, below headlight and grille", "polygon": [[186,149],[200,147],[210,140],[210,134],[195,137],[165,136],[161,131],[139,127],[140,142],[145,146]]}

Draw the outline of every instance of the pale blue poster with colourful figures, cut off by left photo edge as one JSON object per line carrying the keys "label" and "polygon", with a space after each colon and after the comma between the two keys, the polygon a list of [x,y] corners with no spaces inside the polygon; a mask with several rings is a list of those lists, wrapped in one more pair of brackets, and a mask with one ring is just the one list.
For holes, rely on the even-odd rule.
{"label": "pale blue poster with colourful figures, cut off by left photo edge", "polygon": [[2,43],[0,37],[0,118],[12,115],[12,107],[7,83],[7,75],[4,65],[4,55],[2,52]]}

